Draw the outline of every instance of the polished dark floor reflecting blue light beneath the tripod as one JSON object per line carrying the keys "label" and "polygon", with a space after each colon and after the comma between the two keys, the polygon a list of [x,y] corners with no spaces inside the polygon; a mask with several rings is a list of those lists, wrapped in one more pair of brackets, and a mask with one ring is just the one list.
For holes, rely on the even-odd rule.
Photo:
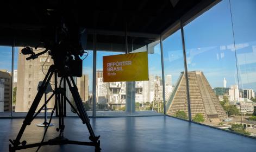
{"label": "polished dark floor reflecting blue light beneath the tripod", "polygon": [[[23,119],[0,119],[0,151],[8,151],[9,138],[14,139]],[[27,143],[40,142],[43,127],[35,119],[24,132]],[[57,123],[58,119],[53,119]],[[65,137],[88,141],[88,131],[78,118],[65,119]],[[256,140],[231,134],[208,126],[189,123],[168,116],[93,118],[96,135],[101,135],[102,151],[255,151]],[[48,129],[46,139],[57,136],[55,128]],[[19,151],[35,151],[35,148]],[[82,145],[47,145],[39,151],[94,151]]]}

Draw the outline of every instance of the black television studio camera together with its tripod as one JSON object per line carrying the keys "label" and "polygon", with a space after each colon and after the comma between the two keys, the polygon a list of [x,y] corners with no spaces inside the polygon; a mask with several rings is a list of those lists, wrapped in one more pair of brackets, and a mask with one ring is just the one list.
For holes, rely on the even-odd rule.
{"label": "black television studio camera together with its tripod", "polygon": [[[30,55],[27,60],[36,59],[39,55],[42,55],[46,52],[52,56],[54,64],[51,65],[48,69],[43,83],[39,87],[39,91],[35,96],[35,99],[30,107],[26,118],[23,121],[20,131],[15,140],[9,140],[9,151],[16,151],[20,149],[27,149],[38,147],[37,151],[42,145],[57,145],[57,144],[78,144],[78,145],[90,145],[95,147],[95,151],[101,151],[99,136],[95,136],[93,129],[90,124],[90,119],[86,113],[86,110],[83,106],[82,99],[78,93],[77,86],[74,82],[73,77],[82,77],[82,59],[81,56],[84,54],[84,49],[86,46],[86,32],[85,29],[80,30],[79,26],[73,21],[70,20],[70,17],[59,17],[60,20],[55,22],[52,25],[47,26],[41,30],[42,42],[35,47],[37,49],[40,45],[45,48],[40,53],[35,54],[33,49],[30,47],[25,47],[21,50],[21,53],[24,55]],[[55,19],[54,19],[55,20]],[[45,92],[47,85],[51,81],[52,76],[54,75],[54,91],[51,97],[38,109],[39,102]],[[57,84],[57,77],[60,77],[59,84]],[[61,86],[61,84],[63,84]],[[70,100],[66,97],[66,84],[68,85],[71,94],[74,99],[75,106],[71,104]],[[58,86],[59,85],[59,86]],[[53,138],[52,140],[44,141],[45,134],[43,135],[42,141],[40,143],[27,144],[26,141],[22,141],[21,137],[27,125],[33,121],[33,119],[40,113],[40,111],[45,107],[45,105],[55,96],[55,104],[51,113],[51,119],[55,111],[56,117],[59,118],[59,127],[57,131],[59,136]],[[82,119],[83,124],[86,124],[90,137],[90,142],[82,141],[71,141],[64,137],[64,117],[66,117],[66,102],[71,105],[75,113]],[[35,113],[36,112],[36,113]]]}

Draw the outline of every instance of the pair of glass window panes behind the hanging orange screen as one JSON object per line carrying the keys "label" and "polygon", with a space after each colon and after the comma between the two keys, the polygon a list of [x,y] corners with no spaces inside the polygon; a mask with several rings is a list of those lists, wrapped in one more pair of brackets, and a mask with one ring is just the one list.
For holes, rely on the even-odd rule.
{"label": "pair of glass window panes behind the hanging orange screen", "polygon": [[[104,43],[105,40],[108,42]],[[97,115],[121,116],[133,115],[134,112],[136,115],[163,113],[161,52],[159,41],[153,41],[154,38],[128,37],[128,53],[148,51],[148,63],[151,67],[149,81],[103,82],[103,56],[124,54],[124,40],[124,36],[97,35],[96,110],[101,111],[101,113],[97,112]]]}

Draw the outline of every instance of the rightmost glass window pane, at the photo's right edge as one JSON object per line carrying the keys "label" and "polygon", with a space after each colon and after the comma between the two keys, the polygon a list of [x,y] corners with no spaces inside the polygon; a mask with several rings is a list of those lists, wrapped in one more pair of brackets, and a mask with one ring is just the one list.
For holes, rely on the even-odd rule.
{"label": "rightmost glass window pane, at the photo's right edge", "polygon": [[255,125],[256,120],[256,1],[233,0],[230,1],[230,9],[235,42],[231,49],[236,52],[239,80],[239,90],[236,91],[238,95],[233,104],[241,112],[236,123],[246,123],[247,126],[245,125],[240,133],[255,137],[256,128],[252,125]]}

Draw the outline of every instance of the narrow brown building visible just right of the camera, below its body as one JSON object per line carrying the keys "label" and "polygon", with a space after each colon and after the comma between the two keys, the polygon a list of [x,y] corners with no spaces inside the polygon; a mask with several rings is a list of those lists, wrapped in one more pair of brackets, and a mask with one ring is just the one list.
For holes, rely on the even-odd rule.
{"label": "narrow brown building visible just right of the camera, below its body", "polygon": [[88,102],[89,97],[89,75],[83,74],[82,77],[77,77],[77,88],[83,102]]}

